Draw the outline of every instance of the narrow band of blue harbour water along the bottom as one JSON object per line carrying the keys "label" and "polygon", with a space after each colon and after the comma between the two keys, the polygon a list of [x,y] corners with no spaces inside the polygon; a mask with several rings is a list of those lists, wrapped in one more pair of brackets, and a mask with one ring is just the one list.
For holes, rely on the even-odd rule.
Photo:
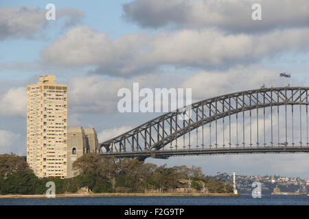
{"label": "narrow band of blue harbour water along the bottom", "polygon": [[309,196],[10,198],[0,205],[309,205]]}

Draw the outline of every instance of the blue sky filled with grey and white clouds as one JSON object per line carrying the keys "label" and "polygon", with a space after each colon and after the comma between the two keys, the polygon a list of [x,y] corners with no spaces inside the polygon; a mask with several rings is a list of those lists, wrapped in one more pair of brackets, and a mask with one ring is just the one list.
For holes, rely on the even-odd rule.
{"label": "blue sky filled with grey and white clouds", "polygon": [[[47,21],[48,3],[56,20]],[[262,20],[254,21],[253,3]],[[26,88],[69,85],[69,127],[99,141],[155,118],[117,111],[120,88],[192,88],[194,101],[266,86],[308,87],[307,0],[0,1],[0,153],[25,155]],[[84,92],[87,90],[87,92]],[[309,178],[309,155],[146,159],[216,172]]]}

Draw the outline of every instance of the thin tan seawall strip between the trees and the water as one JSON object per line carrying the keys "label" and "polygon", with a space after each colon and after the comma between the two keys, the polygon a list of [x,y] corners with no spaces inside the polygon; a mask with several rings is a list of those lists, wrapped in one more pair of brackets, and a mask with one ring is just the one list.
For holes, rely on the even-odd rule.
{"label": "thin tan seawall strip between the trees and the water", "polygon": [[[199,196],[240,196],[240,194],[229,193],[104,193],[104,194],[56,194],[56,198],[87,198],[87,197],[199,197]],[[0,199],[9,198],[47,198],[44,194],[29,194],[29,195],[4,195]]]}

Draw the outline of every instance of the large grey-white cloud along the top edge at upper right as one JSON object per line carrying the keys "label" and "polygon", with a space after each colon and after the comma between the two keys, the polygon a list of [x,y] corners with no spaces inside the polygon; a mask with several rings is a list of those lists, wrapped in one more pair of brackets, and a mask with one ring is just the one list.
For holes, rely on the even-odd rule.
{"label": "large grey-white cloud along the top edge at upper right", "polygon": [[[253,3],[262,5],[262,21],[253,21]],[[308,27],[307,0],[135,0],[123,5],[123,17],[141,27],[205,28],[226,31],[265,31]]]}

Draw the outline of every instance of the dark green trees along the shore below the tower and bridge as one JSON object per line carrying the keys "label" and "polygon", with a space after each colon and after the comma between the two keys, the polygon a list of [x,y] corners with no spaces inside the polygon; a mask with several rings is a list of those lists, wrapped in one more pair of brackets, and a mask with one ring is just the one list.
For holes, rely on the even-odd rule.
{"label": "dark green trees along the shore below the tower and bridge", "polygon": [[56,197],[233,196],[231,183],[206,177],[195,166],[168,168],[89,153],[73,163],[73,170],[77,174],[71,179],[39,179],[23,157],[0,155],[0,198],[43,198],[49,181],[56,185]]}

